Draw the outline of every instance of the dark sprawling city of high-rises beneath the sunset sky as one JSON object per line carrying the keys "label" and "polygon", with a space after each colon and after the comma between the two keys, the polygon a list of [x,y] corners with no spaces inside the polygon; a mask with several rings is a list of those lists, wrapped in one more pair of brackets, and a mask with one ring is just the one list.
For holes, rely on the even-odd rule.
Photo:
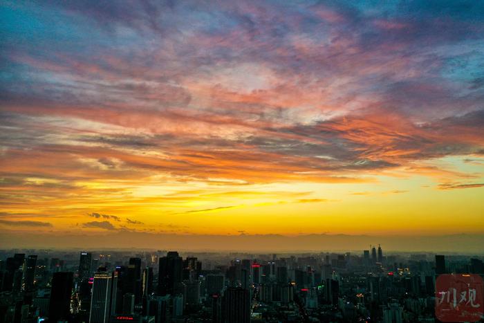
{"label": "dark sprawling city of high-rises beneath the sunset sky", "polygon": [[[34,252],[32,252],[34,253]],[[0,322],[435,322],[436,276],[482,259],[351,252],[0,251]]]}

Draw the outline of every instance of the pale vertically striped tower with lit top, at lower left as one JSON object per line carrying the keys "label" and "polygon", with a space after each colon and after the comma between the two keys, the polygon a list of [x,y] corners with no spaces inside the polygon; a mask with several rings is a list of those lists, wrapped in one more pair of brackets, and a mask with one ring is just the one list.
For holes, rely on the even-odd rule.
{"label": "pale vertically striped tower with lit top, at lower left", "polygon": [[115,312],[118,273],[98,271],[94,274],[90,323],[108,323]]}

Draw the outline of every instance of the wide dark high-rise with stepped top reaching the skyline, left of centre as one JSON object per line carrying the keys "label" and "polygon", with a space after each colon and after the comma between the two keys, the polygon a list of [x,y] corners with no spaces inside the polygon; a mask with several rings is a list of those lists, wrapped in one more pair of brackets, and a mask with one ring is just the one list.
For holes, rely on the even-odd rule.
{"label": "wide dark high-rise with stepped top reaching the skyline, left of centre", "polygon": [[161,257],[158,269],[158,293],[174,294],[182,281],[182,271],[183,259],[178,256],[178,252],[170,251],[166,257]]}

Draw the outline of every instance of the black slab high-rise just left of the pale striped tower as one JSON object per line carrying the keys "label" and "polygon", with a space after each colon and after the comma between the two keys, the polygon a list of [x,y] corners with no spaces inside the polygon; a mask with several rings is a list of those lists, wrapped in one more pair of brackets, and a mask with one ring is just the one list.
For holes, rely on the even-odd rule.
{"label": "black slab high-rise just left of the pale striped tower", "polygon": [[71,315],[71,294],[74,273],[57,272],[52,277],[50,288],[49,322],[68,320]]}

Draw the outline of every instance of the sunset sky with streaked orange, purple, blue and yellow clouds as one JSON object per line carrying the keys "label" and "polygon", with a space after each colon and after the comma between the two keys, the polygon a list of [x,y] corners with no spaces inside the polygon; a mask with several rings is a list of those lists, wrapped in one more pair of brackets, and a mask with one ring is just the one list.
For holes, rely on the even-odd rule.
{"label": "sunset sky with streaked orange, purple, blue and yellow clouds", "polygon": [[9,241],[484,236],[481,1],[2,1],[0,19]]}

